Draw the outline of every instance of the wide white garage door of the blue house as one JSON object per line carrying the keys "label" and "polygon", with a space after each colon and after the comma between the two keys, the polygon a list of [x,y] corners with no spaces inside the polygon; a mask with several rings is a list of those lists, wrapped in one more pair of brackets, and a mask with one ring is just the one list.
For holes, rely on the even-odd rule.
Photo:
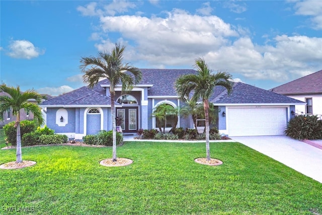
{"label": "wide white garage door of the blue house", "polygon": [[284,135],[286,108],[228,108],[229,136]]}

